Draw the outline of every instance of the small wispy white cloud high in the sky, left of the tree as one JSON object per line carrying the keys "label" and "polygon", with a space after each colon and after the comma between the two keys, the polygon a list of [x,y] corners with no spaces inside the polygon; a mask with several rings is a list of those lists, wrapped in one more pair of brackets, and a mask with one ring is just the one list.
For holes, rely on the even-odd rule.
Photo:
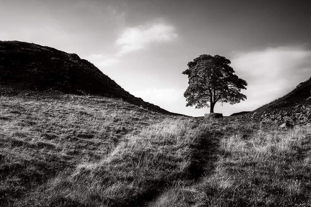
{"label": "small wispy white cloud high in the sky, left of the tree", "polygon": [[116,40],[116,44],[120,47],[118,55],[143,49],[151,43],[169,42],[177,36],[175,28],[164,23],[130,27]]}

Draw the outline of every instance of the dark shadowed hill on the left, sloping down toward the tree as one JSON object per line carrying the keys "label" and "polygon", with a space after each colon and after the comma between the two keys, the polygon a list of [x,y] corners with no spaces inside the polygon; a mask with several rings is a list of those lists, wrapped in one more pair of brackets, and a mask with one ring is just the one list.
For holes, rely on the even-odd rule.
{"label": "dark shadowed hill on the left, sloping down toward the tree", "polygon": [[168,113],[134,97],[77,54],[34,43],[0,41],[0,95],[48,89],[122,98],[137,106]]}

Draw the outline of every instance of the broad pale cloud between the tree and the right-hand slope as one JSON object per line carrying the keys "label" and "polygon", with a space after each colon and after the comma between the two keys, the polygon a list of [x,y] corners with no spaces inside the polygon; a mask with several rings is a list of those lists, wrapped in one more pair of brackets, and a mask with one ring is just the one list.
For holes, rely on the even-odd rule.
{"label": "broad pale cloud between the tree and the right-hand slope", "polygon": [[311,76],[311,51],[302,47],[236,52],[231,62],[236,74],[248,82],[248,89],[243,91],[248,98],[233,106],[225,105],[228,114],[254,110],[282,97]]}

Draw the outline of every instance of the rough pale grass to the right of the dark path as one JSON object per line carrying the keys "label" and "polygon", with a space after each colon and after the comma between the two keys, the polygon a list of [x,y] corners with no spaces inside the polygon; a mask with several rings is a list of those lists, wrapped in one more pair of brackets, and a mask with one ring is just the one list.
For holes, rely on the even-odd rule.
{"label": "rough pale grass to the right of the dark path", "polygon": [[[244,124],[239,128],[249,128]],[[305,135],[311,128],[262,129],[259,123],[257,127],[244,140],[220,139],[213,173],[202,177],[188,200],[176,206],[310,206],[311,137]],[[184,189],[179,196],[187,192]]]}

